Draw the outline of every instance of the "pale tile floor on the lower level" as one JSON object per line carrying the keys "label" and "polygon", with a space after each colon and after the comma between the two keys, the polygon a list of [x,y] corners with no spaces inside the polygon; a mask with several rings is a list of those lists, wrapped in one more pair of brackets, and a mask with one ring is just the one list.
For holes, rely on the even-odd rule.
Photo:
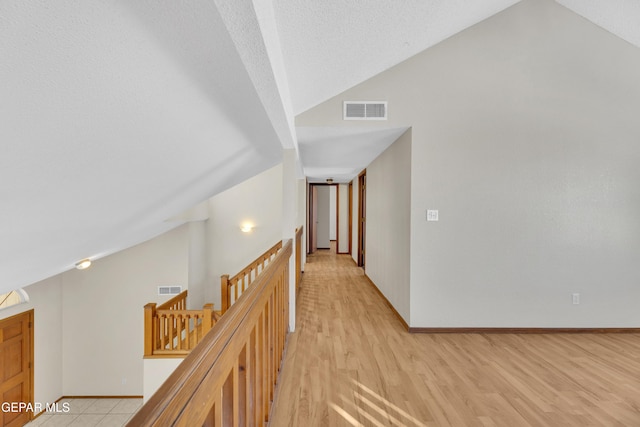
{"label": "pale tile floor on the lower level", "polygon": [[122,427],[142,406],[142,399],[62,399],[58,407],[69,403],[69,412],[43,413],[26,427]]}

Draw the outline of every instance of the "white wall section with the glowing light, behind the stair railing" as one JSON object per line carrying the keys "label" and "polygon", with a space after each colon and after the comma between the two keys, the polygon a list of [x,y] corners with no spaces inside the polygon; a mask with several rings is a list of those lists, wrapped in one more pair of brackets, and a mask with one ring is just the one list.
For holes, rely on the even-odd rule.
{"label": "white wall section with the glowing light, behind the stair railing", "polygon": [[[235,275],[282,240],[282,164],[209,199],[207,301],[220,307],[220,276]],[[240,230],[244,222],[255,228]],[[207,291],[207,290],[206,290]]]}

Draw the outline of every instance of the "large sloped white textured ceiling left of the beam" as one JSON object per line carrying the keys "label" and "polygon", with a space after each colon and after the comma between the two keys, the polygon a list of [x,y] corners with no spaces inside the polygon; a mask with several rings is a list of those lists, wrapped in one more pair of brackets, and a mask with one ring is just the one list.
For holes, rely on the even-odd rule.
{"label": "large sloped white textured ceiling left of the beam", "polygon": [[2,290],[159,234],[281,159],[269,80],[259,94],[210,1],[2,1],[0,58]]}

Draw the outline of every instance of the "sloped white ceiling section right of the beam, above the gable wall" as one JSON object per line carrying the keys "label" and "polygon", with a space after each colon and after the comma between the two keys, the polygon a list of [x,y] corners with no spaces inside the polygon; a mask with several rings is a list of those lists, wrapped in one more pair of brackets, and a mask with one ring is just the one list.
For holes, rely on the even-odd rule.
{"label": "sloped white ceiling section right of the beam, above the gable wall", "polygon": [[295,114],[518,0],[276,0]]}

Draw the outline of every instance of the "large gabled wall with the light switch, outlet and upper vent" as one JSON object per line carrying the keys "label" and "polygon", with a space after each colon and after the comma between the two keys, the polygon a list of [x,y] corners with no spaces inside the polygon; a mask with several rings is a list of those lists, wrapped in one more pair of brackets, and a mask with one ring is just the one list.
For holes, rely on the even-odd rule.
{"label": "large gabled wall with the light switch, outlet and upper vent", "polygon": [[412,126],[410,326],[638,327],[638,75],[637,47],[524,0],[296,122]]}

